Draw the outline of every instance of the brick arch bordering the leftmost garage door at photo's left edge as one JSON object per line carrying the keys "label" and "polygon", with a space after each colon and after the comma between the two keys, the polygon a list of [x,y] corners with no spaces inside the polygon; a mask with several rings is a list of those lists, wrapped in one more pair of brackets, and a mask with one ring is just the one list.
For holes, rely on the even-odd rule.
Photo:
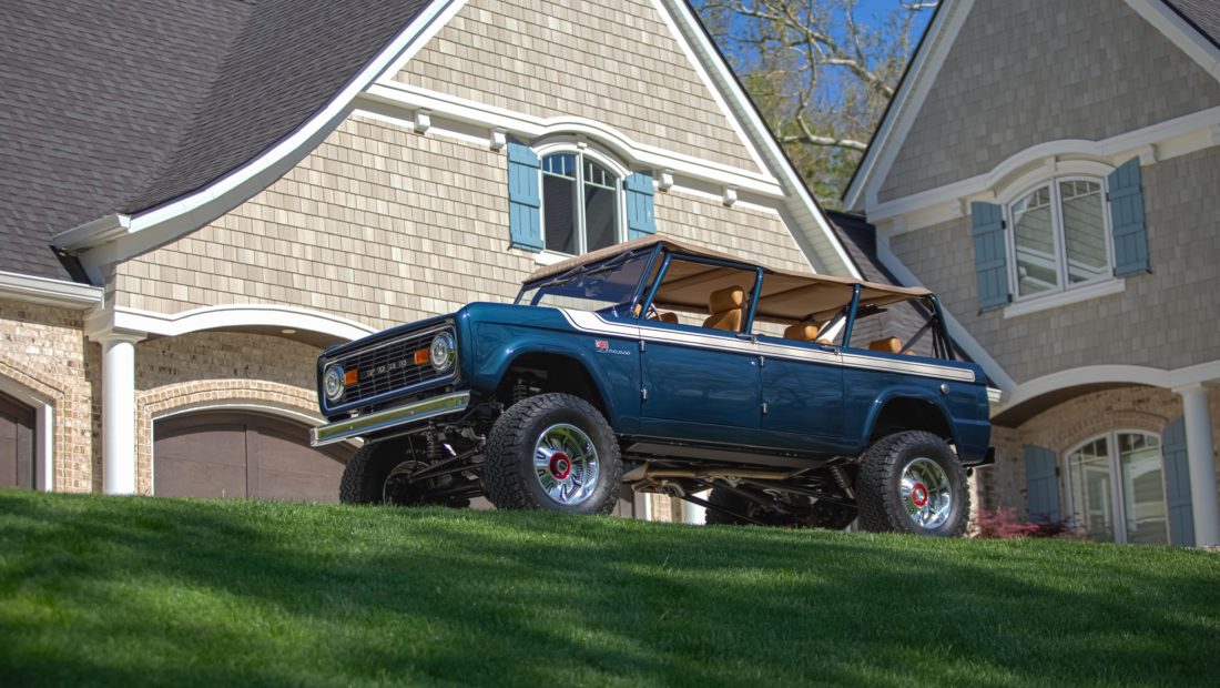
{"label": "brick arch bordering the leftmost garage door at photo's left edge", "polygon": [[93,410],[88,387],[73,384],[62,376],[23,364],[7,354],[0,354],[0,378],[51,409],[54,489],[89,492],[93,484]]}

